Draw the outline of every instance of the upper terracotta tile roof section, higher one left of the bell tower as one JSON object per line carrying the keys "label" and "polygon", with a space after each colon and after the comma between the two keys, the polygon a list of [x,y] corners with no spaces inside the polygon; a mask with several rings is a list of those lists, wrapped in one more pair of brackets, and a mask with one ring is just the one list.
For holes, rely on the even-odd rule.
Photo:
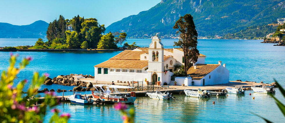
{"label": "upper terracotta tile roof section, higher one left of the bell tower", "polygon": [[148,51],[131,51],[124,50],[123,52],[117,54],[110,59],[120,59],[120,60],[140,60],[140,55],[148,53]]}

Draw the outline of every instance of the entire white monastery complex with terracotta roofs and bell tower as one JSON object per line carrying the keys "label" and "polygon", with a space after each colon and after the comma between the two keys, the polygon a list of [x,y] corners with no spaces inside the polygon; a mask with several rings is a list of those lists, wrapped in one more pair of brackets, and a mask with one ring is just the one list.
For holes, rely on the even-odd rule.
{"label": "entire white monastery complex with terracotta roofs and bell tower", "polygon": [[204,86],[229,82],[226,64],[205,64],[206,56],[200,54],[194,66],[187,71],[188,76],[174,77],[174,65],[184,64],[181,48],[164,49],[158,36],[152,38],[149,48],[124,50],[103,63],[95,65],[95,81],[147,81],[163,85],[185,84]]}

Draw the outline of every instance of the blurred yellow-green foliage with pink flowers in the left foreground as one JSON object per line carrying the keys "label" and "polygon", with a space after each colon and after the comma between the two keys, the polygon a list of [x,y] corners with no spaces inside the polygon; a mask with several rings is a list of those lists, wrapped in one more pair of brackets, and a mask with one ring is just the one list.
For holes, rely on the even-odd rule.
{"label": "blurred yellow-green foliage with pink flowers in the left foreground", "polygon": [[[23,88],[27,80],[22,80],[14,87],[13,84],[17,74],[29,64],[31,57],[24,58],[19,63],[19,68],[16,68],[17,55],[10,55],[10,66],[7,71],[2,72],[0,80],[0,122],[41,123],[47,110],[59,104],[59,100],[52,98],[54,93],[46,92],[44,101],[40,105],[34,105],[38,101],[36,91],[49,74],[40,76],[38,72],[35,72],[27,93],[24,93]],[[70,114],[61,114],[59,116],[57,109],[52,109],[52,112],[54,112],[54,115],[51,117],[50,123],[66,123],[70,118]]]}

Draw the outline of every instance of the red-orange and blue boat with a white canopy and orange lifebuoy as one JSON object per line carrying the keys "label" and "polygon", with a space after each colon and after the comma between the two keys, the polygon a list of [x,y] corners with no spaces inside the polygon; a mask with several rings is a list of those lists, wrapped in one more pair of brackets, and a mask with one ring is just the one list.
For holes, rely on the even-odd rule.
{"label": "red-orange and blue boat with a white canopy and orange lifebuoy", "polygon": [[[107,90],[105,91],[102,87],[106,86]],[[131,92],[131,94],[128,93],[120,93],[117,89],[131,89],[134,87],[130,86],[120,86],[120,85],[104,85],[104,84],[99,84],[99,85],[93,85],[93,87],[100,87],[99,91],[100,93],[94,93],[92,90],[92,96],[93,98],[97,98],[100,100],[111,100],[113,103],[120,102],[120,103],[130,103],[134,104],[136,100],[136,93]],[[115,92],[114,94],[111,94],[110,88],[113,89]]]}

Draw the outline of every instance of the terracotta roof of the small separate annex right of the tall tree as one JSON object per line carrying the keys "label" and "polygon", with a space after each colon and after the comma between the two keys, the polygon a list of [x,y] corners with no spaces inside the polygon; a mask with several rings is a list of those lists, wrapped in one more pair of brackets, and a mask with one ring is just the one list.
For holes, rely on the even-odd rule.
{"label": "terracotta roof of the small separate annex right of the tall tree", "polygon": [[197,69],[194,66],[190,67],[187,74],[191,76],[193,80],[200,80],[211,71],[219,67],[219,64],[196,64]]}

